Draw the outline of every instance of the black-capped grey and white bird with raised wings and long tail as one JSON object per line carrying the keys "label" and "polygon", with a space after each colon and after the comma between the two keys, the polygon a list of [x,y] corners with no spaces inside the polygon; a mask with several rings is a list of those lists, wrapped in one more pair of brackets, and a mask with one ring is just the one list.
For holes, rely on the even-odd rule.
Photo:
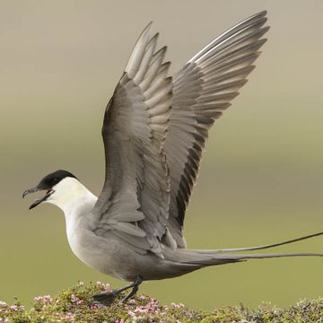
{"label": "black-capped grey and white bird with raised wings and long tail", "polygon": [[[322,235],[258,247],[188,249],[184,217],[196,183],[205,140],[247,83],[265,44],[266,11],[256,13],[212,40],[179,73],[168,75],[166,47],[149,23],[135,43],[104,112],[105,180],[100,196],[66,170],[45,176],[22,197],[57,205],[65,214],[69,245],[81,261],[130,282],[93,295],[109,306],[120,292],[126,302],[142,282],[185,275],[205,266],[252,258],[323,256],[319,253],[245,254]],[[235,252],[235,253],[232,253]]]}

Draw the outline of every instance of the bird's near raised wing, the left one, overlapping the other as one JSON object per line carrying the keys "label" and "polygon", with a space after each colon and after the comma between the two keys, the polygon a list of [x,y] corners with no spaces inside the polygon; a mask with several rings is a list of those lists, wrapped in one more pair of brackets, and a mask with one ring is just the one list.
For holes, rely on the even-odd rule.
{"label": "bird's near raised wing, the left one, overlapping the other", "polygon": [[116,235],[137,252],[162,257],[160,241],[176,246],[167,229],[170,174],[162,144],[170,118],[170,63],[155,52],[149,24],[138,39],[105,112],[106,179],[93,213],[95,233]]}

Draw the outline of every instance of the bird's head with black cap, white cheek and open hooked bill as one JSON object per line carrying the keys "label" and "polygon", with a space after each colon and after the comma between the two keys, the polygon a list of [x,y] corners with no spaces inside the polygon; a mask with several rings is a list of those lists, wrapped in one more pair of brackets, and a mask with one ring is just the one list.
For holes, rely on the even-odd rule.
{"label": "bird's head with black cap, white cheek and open hooked bill", "polygon": [[30,210],[42,202],[60,206],[65,202],[66,198],[69,198],[74,188],[78,188],[80,185],[79,180],[69,171],[57,170],[41,179],[36,187],[26,189],[22,194],[22,198],[30,193],[43,190],[45,195],[32,203],[29,207]]}

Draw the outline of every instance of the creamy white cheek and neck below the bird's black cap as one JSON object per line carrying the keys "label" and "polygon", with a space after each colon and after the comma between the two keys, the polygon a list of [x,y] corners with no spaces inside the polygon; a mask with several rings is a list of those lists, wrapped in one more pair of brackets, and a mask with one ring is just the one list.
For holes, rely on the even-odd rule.
{"label": "creamy white cheek and neck below the bird's black cap", "polygon": [[98,199],[78,179],[70,177],[62,179],[53,190],[54,193],[45,202],[57,205],[66,218],[72,214],[90,212]]}

